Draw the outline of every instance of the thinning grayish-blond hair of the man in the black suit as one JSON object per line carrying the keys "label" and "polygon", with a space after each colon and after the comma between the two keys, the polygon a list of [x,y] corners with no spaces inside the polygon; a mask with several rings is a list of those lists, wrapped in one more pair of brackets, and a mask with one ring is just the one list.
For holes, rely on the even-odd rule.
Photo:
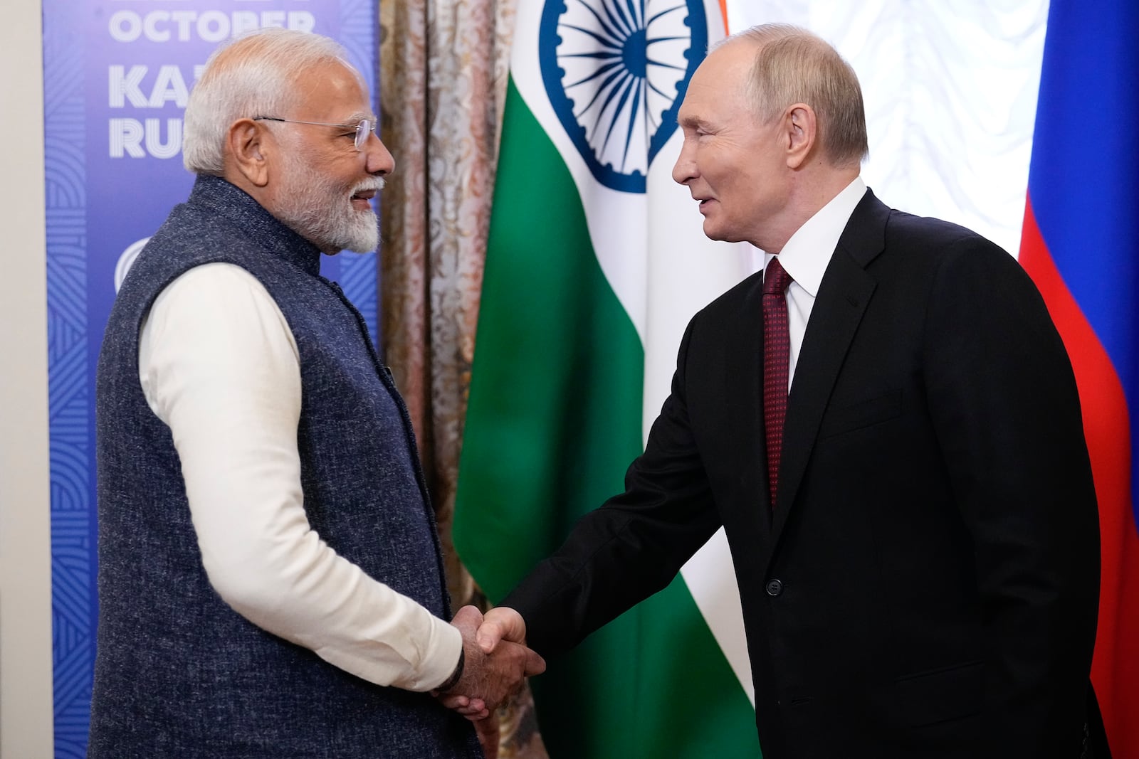
{"label": "thinning grayish-blond hair of the man in the black suit", "polygon": [[761,24],[720,41],[757,47],[747,94],[763,122],[795,102],[814,109],[819,145],[838,167],[858,165],[869,154],[862,88],[851,65],[826,40],[790,24]]}

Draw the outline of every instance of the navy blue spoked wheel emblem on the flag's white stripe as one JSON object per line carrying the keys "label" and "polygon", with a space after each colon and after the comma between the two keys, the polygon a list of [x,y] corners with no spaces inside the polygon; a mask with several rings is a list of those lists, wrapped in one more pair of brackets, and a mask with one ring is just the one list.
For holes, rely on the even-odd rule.
{"label": "navy blue spoked wheel emblem on the flag's white stripe", "polygon": [[706,49],[703,0],[547,1],[542,82],[598,182],[645,191]]}

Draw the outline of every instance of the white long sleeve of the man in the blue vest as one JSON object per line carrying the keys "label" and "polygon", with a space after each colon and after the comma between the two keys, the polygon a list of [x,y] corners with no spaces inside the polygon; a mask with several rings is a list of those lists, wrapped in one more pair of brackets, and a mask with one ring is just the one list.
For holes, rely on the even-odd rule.
{"label": "white long sleeve of the man in the blue vest", "polygon": [[230,607],[371,683],[428,691],[446,680],[459,630],[309,526],[296,343],[256,278],[214,263],[175,279],[142,324],[139,380],[171,429],[202,562]]}

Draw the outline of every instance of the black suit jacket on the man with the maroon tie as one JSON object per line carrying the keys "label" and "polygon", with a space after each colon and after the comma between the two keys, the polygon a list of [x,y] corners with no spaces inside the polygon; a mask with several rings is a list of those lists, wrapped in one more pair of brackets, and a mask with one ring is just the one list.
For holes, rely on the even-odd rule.
{"label": "black suit jacket on the man with the maroon tie", "polygon": [[1098,519],[1072,369],[1032,282],[988,240],[868,191],[806,328],[772,511],[761,281],[691,320],[625,493],[503,605],[556,654],[723,525],[768,759],[1080,756]]}

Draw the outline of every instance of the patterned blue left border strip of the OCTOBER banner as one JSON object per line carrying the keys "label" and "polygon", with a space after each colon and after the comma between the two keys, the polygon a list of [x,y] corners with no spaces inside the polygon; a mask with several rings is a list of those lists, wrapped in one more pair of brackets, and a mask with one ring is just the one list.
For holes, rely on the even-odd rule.
{"label": "patterned blue left border strip of the OCTOBER banner", "polygon": [[88,373],[83,46],[71,8],[44,2],[48,404],[56,757],[87,753],[96,599]]}

